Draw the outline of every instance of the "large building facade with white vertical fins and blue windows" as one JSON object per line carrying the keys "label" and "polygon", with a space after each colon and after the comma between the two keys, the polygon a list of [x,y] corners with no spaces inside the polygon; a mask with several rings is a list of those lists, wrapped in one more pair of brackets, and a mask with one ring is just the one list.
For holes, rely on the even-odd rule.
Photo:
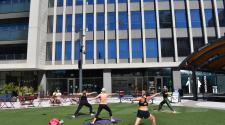
{"label": "large building facade with white vertical fins and blue windows", "polygon": [[[16,32],[1,33],[0,84],[40,84],[48,93],[78,91],[80,41],[89,91],[132,94],[167,86],[189,93],[190,73],[179,71],[180,62],[225,32],[224,0],[27,0],[25,12],[6,11],[8,1],[26,0],[0,3],[0,32],[7,33],[2,27],[10,20],[21,20],[27,35],[19,34],[20,40]],[[199,80],[212,88],[215,76],[224,79],[199,73]]]}

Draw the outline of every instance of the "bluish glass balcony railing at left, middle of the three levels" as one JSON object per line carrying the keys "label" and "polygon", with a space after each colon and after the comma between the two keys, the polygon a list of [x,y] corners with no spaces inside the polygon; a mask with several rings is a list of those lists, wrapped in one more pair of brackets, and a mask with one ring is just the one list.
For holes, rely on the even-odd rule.
{"label": "bluish glass balcony railing at left, middle of the three levels", "polygon": [[28,30],[0,30],[0,41],[27,40]]}

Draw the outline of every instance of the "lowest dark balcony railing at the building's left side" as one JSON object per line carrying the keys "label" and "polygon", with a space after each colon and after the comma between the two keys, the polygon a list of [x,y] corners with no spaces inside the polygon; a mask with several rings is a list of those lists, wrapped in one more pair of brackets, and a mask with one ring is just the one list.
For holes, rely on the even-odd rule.
{"label": "lowest dark balcony railing at the building's left side", "polygon": [[3,60],[25,60],[26,54],[0,54],[0,61]]}

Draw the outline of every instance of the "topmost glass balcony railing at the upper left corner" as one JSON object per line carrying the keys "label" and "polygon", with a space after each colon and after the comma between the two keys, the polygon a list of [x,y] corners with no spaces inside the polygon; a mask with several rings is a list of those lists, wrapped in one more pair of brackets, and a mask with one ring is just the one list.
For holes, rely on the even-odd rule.
{"label": "topmost glass balcony railing at the upper left corner", "polygon": [[4,2],[0,1],[0,13],[17,13],[17,12],[27,12],[30,10],[29,0],[22,2]]}

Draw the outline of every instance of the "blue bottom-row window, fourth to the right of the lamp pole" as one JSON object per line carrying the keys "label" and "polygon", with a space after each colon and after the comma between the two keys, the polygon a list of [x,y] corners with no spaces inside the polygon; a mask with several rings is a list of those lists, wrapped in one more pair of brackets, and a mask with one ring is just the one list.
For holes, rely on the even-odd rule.
{"label": "blue bottom-row window, fourth to the right of the lamp pole", "polygon": [[129,58],[129,42],[127,39],[121,39],[119,41],[120,59]]}

